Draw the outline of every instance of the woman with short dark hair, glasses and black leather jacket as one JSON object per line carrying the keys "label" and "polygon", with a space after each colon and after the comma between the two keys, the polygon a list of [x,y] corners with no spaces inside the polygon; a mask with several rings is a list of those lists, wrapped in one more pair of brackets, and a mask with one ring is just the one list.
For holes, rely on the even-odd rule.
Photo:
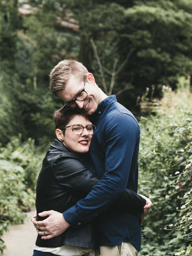
{"label": "woman with short dark hair, glasses and black leather jacket", "polygon": [[[37,216],[39,212],[51,209],[64,212],[84,198],[99,181],[84,166],[82,157],[89,150],[95,129],[90,117],[80,110],[61,108],[55,112],[54,120],[58,140],[54,140],[47,151],[38,177]],[[127,189],[113,207],[130,211],[130,203],[131,209],[134,209],[132,212],[142,213],[146,201]],[[44,219],[40,216],[37,218]],[[98,248],[96,227],[92,221],[78,229],[70,227],[60,236],[49,240],[43,240],[38,235],[33,256],[78,256],[85,253],[92,256],[95,255],[93,249]]]}

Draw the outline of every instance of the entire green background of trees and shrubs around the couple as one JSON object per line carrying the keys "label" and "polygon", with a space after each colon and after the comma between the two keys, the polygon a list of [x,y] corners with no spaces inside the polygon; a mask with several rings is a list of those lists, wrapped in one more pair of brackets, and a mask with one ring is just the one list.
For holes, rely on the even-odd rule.
{"label": "entire green background of trees and shrubs around the couple", "polygon": [[192,227],[177,229],[192,218],[191,42],[191,0],[1,0],[0,173],[9,182],[0,182],[0,230],[34,203],[39,163],[62,106],[48,89],[49,73],[73,58],[139,119],[140,190],[154,201],[141,254],[190,255],[183,232]]}

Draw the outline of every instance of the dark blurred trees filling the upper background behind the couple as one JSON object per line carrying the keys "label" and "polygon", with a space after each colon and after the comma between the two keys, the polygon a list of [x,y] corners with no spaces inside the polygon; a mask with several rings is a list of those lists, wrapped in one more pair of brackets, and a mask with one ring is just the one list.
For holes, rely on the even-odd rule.
{"label": "dark blurred trees filling the upper background behind the couple", "polygon": [[49,73],[64,58],[81,61],[106,93],[139,116],[136,101],[146,87],[161,97],[164,84],[175,89],[180,76],[191,77],[191,6],[191,0],[1,1],[0,123],[12,123],[2,127],[2,143],[10,131],[38,145],[52,140],[50,120],[61,101],[47,89]]}

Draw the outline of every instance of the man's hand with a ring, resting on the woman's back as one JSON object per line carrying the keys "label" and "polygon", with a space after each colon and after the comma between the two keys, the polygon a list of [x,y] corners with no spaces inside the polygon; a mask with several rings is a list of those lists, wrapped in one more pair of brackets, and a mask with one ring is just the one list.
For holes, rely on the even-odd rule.
{"label": "man's hand with a ring, resting on the woman's back", "polygon": [[61,212],[53,210],[44,211],[39,213],[39,216],[49,216],[44,221],[35,221],[35,217],[32,217],[32,222],[37,227],[38,234],[42,236],[41,239],[47,240],[59,236],[70,227],[70,224],[65,220]]}

